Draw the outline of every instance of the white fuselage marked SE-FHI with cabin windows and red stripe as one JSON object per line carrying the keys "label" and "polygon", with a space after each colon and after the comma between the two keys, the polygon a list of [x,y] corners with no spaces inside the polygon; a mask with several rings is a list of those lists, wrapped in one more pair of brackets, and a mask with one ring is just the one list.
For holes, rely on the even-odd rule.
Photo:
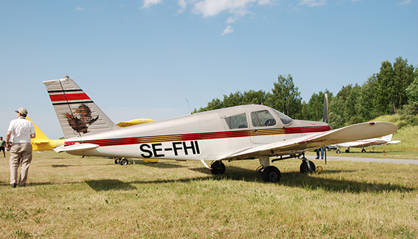
{"label": "white fuselage marked SE-FHI with cabin windows and red stripe", "polygon": [[219,160],[254,146],[327,130],[327,123],[292,120],[270,107],[245,105],[74,137],[65,146],[99,146],[68,152],[84,156]]}

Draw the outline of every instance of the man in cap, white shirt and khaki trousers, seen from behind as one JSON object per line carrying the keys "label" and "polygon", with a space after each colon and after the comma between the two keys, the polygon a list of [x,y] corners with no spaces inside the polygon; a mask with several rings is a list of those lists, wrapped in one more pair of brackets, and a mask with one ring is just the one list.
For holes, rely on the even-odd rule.
{"label": "man in cap, white shirt and khaki trousers, seen from behind", "polygon": [[[35,126],[26,120],[28,111],[21,107],[16,111],[17,118],[10,121],[6,135],[6,147],[10,148],[10,139],[13,145],[10,148],[10,187],[26,185],[29,165],[32,161],[31,138],[36,137]],[[17,169],[21,166],[19,182],[17,182]]]}

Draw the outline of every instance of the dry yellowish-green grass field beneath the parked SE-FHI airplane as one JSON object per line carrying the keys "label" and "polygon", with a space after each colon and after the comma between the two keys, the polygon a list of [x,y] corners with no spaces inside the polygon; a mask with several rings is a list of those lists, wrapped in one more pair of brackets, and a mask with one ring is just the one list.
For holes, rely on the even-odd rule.
{"label": "dry yellowish-green grass field beneath the parked SE-FHI airplane", "polygon": [[418,238],[418,165],[314,162],[323,174],[284,160],[263,183],[258,160],[212,176],[201,162],[34,153],[12,189],[6,157],[0,238]]}

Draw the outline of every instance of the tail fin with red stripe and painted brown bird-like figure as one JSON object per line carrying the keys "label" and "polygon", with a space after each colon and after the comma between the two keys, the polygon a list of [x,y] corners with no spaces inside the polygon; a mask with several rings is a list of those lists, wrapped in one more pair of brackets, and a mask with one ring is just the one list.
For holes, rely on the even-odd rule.
{"label": "tail fin with red stripe and painted brown bird-like figure", "polygon": [[117,127],[68,75],[43,83],[65,138],[82,137]]}

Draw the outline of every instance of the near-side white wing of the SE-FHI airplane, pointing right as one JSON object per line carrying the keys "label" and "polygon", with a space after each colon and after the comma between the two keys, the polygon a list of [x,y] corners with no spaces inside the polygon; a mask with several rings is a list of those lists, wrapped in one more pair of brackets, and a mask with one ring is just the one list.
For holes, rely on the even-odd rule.
{"label": "near-side white wing of the SE-FHI airplane, pointing right", "polygon": [[398,130],[398,127],[393,123],[358,123],[336,130],[248,148],[244,151],[233,153],[221,160],[245,160],[260,156],[279,156],[302,153],[325,145],[370,139],[372,137],[382,137],[382,135],[392,134],[393,132],[396,132],[396,130]]}

